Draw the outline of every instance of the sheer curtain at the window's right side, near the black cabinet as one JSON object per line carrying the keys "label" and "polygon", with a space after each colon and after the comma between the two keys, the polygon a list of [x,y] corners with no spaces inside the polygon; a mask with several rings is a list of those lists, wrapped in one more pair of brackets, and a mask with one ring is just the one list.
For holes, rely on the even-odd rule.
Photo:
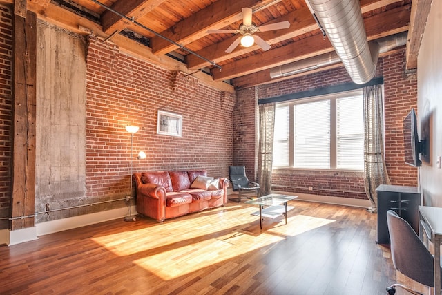
{"label": "sheer curtain at the window's right side, near the black cabinet", "polygon": [[365,192],[371,202],[367,209],[377,212],[380,184],[390,184],[384,162],[384,103],[382,86],[363,88],[364,100],[364,175]]}

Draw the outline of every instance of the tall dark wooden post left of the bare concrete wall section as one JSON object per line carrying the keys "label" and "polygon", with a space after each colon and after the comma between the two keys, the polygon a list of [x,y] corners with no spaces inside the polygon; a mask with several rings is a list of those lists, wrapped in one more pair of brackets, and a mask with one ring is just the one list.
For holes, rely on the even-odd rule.
{"label": "tall dark wooden post left of the bare concrete wall section", "polygon": [[[24,2],[24,8],[23,8]],[[23,12],[24,9],[24,12]],[[12,123],[12,218],[10,229],[34,226],[37,16],[15,1],[14,104]],[[16,14],[17,13],[17,14]],[[26,15],[26,17],[23,17]]]}

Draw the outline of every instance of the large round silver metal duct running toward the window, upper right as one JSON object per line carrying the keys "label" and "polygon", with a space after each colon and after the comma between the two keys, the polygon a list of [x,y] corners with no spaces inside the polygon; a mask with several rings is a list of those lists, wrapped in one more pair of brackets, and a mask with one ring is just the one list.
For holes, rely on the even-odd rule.
{"label": "large round silver metal duct running toward the window, upper right", "polygon": [[376,73],[358,0],[307,0],[356,84]]}

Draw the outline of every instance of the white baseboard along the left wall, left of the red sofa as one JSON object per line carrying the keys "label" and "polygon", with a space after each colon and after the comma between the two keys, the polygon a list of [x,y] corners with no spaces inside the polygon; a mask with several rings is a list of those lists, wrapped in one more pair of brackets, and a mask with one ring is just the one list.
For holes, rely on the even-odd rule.
{"label": "white baseboard along the left wall, left of the red sofa", "polygon": [[[132,213],[137,214],[135,207],[132,207]],[[34,227],[26,229],[17,229],[10,231],[9,229],[0,230],[0,245],[6,244],[8,246],[16,245],[21,242],[28,242],[30,240],[37,240],[38,236],[52,234],[57,231],[66,231],[68,229],[75,229],[77,227],[84,227],[86,225],[93,225],[95,223],[114,220],[117,218],[124,218],[128,214],[128,208],[119,208],[97,213],[90,213],[80,216],[73,216],[48,222],[37,223]]]}

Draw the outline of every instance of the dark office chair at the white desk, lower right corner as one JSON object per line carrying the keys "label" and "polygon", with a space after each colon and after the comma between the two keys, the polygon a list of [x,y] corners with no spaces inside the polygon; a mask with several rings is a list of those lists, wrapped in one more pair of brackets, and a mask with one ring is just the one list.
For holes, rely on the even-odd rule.
{"label": "dark office chair at the white desk, lower right corner", "polygon": [[[408,222],[392,210],[387,211],[387,225],[390,231],[390,249],[394,267],[408,278],[428,287],[434,287],[433,256],[416,232]],[[394,294],[395,287],[401,287],[412,294],[421,294],[400,284],[387,287],[387,293]]]}

